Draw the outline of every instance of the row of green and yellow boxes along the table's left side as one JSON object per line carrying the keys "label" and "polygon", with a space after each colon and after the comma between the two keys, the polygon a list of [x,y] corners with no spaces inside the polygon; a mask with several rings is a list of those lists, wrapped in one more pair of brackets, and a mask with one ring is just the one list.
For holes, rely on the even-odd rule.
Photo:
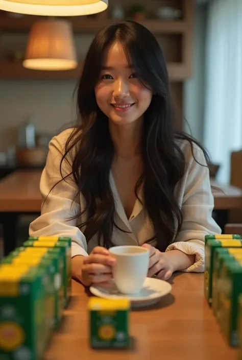
{"label": "row of green and yellow boxes along the table's left side", "polygon": [[71,293],[71,239],[30,237],[0,262],[0,358],[40,360]]}

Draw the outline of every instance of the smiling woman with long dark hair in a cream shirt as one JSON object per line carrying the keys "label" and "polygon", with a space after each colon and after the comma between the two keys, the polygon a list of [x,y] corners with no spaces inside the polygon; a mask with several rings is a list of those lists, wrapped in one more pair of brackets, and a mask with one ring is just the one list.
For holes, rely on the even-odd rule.
{"label": "smiling woman with long dark hair in a cream shirt", "polygon": [[[30,235],[72,238],[72,275],[112,277],[113,245],[150,249],[148,276],[204,270],[211,217],[207,155],[175,133],[165,61],[155,37],[127,21],[93,40],[78,87],[82,125],[54,137]],[[89,255],[88,255],[89,254]]]}

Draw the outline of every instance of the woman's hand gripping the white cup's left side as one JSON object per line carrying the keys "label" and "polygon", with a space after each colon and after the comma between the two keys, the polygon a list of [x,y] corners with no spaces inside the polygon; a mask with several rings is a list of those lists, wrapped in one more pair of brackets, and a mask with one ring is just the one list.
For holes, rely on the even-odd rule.
{"label": "woman's hand gripping the white cup's left side", "polygon": [[72,259],[72,275],[78,278],[85,286],[106,282],[112,278],[112,266],[114,263],[115,259],[109,254],[109,251],[97,246],[89,256],[76,256]]}

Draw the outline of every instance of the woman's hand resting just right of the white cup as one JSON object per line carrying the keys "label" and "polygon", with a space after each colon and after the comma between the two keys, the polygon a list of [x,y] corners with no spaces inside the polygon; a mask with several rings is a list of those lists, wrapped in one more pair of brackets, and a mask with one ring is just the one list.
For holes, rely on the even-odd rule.
{"label": "woman's hand resting just right of the white cup", "polygon": [[144,244],[142,246],[150,250],[148,277],[152,277],[156,274],[158,279],[168,280],[175,271],[171,259],[169,259],[165,253],[160,252],[149,244]]}

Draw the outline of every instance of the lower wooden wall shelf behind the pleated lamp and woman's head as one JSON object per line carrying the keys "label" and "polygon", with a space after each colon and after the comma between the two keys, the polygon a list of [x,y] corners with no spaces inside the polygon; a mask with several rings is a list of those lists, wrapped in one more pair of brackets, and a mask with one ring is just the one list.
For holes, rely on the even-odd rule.
{"label": "lower wooden wall shelf behind the pleated lamp and woman's head", "polygon": [[[21,63],[0,61],[0,79],[66,79],[78,80],[81,74],[81,64],[74,70],[41,71],[30,70]],[[182,63],[168,63],[168,73],[171,81],[184,81],[189,77],[189,71]]]}

